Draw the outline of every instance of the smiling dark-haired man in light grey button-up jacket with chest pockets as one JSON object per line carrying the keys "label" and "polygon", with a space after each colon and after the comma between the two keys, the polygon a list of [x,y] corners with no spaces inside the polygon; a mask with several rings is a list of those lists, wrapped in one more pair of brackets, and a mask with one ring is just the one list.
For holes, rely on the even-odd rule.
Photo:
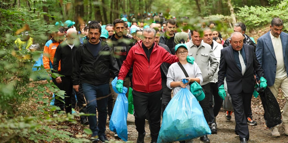
{"label": "smiling dark-haired man in light grey button-up jacket with chest pockets", "polygon": [[[202,36],[197,30],[191,31],[191,39],[185,43],[188,48],[188,56],[195,58],[195,62],[198,64],[203,77],[203,82],[200,84],[205,90],[205,98],[199,101],[200,106],[203,109],[204,117],[207,124],[209,123],[209,94],[210,94],[210,81],[209,78],[214,75],[218,67],[218,61],[209,44],[202,41]],[[209,66],[210,61],[210,66]],[[200,137],[200,140],[209,143],[210,140],[207,135]]]}

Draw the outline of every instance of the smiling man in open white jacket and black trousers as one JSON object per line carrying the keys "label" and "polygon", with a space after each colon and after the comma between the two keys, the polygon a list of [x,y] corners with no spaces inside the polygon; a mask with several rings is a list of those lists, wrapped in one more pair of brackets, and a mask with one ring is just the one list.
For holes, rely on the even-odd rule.
{"label": "smiling man in open white jacket and black trousers", "polygon": [[[213,34],[210,28],[205,28],[203,31],[203,42],[209,44],[212,47],[212,51],[217,59],[220,61],[220,50],[223,49],[223,46],[213,40]],[[209,106],[209,126],[212,134],[217,133],[217,124],[216,116],[218,115],[223,99],[218,96],[218,70],[217,67],[216,73],[214,76],[210,77],[210,106]],[[214,98],[213,98],[214,97]],[[213,99],[215,104],[213,105]]]}

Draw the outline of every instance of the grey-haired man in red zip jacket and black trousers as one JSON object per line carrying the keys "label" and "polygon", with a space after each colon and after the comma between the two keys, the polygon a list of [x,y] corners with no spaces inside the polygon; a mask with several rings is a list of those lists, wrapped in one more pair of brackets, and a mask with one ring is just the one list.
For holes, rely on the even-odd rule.
{"label": "grey-haired man in red zip jacket and black trousers", "polygon": [[161,120],[162,86],[160,65],[163,62],[178,62],[178,57],[167,52],[154,42],[156,31],[154,28],[143,30],[143,40],[138,41],[129,52],[121,66],[116,88],[122,93],[123,80],[133,64],[133,101],[137,143],[144,143],[145,119],[149,114],[151,127],[151,143],[156,143]]}

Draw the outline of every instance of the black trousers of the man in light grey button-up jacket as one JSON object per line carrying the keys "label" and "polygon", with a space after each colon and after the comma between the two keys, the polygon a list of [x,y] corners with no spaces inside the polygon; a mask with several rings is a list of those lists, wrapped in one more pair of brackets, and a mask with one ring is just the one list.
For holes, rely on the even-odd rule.
{"label": "black trousers of the man in light grey button-up jacket", "polygon": [[205,90],[205,98],[202,101],[199,101],[199,104],[202,107],[205,120],[208,124],[209,123],[209,103],[210,103],[210,83],[203,85],[202,88]]}

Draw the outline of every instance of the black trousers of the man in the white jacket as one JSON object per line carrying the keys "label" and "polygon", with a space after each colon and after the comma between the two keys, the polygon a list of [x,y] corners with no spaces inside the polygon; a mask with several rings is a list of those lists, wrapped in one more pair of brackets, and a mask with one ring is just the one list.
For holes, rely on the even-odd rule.
{"label": "black trousers of the man in the white jacket", "polygon": [[[216,117],[221,109],[223,99],[218,95],[218,82],[210,82],[210,103],[209,103],[209,124],[216,123],[214,117]],[[214,99],[214,105],[213,105]]]}

